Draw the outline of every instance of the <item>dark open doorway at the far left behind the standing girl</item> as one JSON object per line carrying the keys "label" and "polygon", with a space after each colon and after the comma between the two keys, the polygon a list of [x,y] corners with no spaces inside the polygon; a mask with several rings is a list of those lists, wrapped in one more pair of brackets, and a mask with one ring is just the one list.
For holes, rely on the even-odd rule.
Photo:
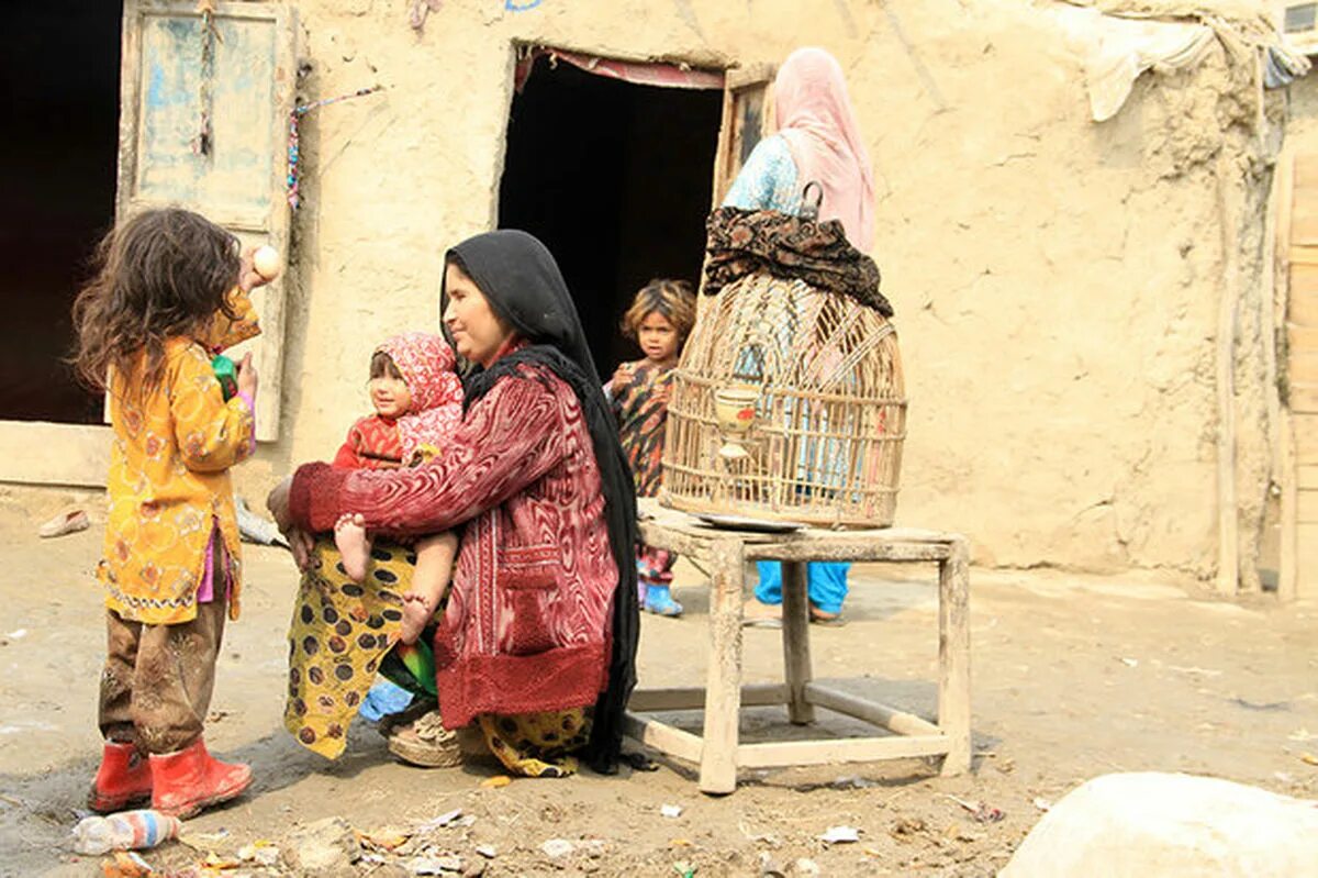
{"label": "dark open doorway at the far left behind the standing girl", "polygon": [[5,4],[0,419],[99,423],[63,363],[69,308],[115,218],[123,3]]}

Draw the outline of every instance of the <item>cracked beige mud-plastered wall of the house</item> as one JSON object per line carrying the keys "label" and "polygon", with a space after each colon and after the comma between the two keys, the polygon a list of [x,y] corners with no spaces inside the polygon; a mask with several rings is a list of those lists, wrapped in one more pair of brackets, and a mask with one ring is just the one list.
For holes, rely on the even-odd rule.
{"label": "cracked beige mud-plastered wall of the house", "polygon": [[708,66],[815,44],[847,71],[876,173],[874,256],[911,401],[898,522],[961,530],[982,563],[1210,576],[1235,248],[1242,556],[1255,551],[1260,212],[1280,116],[1260,112],[1252,69],[1218,51],[1147,74],[1094,124],[1079,59],[1023,0],[447,0],[420,33],[409,8],[298,4],[301,95],[386,91],[303,125],[282,439],[240,469],[246,493],[332,455],[368,410],[374,344],[438,326],[444,249],[496,220],[514,42]]}

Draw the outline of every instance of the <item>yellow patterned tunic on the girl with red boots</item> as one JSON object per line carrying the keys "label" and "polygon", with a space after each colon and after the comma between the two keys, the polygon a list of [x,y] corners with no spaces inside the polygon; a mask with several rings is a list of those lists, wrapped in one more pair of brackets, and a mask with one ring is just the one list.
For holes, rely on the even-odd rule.
{"label": "yellow patterned tunic on the girl with red boots", "polygon": [[[169,339],[165,360],[165,377],[149,394],[128,393],[117,370],[111,376],[109,521],[96,576],[105,605],[123,618],[188,622],[217,521],[231,563],[229,617],[237,618],[241,564],[228,471],[252,454],[254,415],[240,397],[224,401],[200,343]],[[215,588],[224,588],[223,577]]]}

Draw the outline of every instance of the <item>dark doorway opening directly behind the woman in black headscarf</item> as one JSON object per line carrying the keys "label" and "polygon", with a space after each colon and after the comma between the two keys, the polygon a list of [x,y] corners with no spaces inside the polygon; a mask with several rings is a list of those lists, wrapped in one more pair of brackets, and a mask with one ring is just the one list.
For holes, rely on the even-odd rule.
{"label": "dark doorway opening directly behind the woman in black headscarf", "polygon": [[721,91],[633,86],[546,58],[513,99],[500,227],[554,253],[604,380],[641,356],[618,332],[637,290],[699,279],[721,115]]}

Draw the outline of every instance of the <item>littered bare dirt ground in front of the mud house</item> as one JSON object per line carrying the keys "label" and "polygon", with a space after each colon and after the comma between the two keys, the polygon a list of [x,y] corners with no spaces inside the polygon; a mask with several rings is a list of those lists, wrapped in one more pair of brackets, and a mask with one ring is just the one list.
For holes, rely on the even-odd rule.
{"label": "littered bare dirt ground in front of the mud house", "polygon": [[[99,753],[103,629],[91,571],[101,534],[94,525],[40,541],[37,512],[45,510],[0,498],[0,566],[9,571],[0,581],[0,874],[100,874],[99,858],[70,853],[69,831]],[[360,832],[413,833],[394,853],[368,848],[349,874],[413,874],[406,863],[430,853],[457,856],[469,875],[775,874],[766,857],[780,874],[991,875],[1040,805],[1104,773],[1189,771],[1318,795],[1318,767],[1304,759],[1318,753],[1314,605],[1226,604],[1147,573],[974,570],[971,775],[942,779],[917,759],[743,773],[734,795],[709,798],[696,790],[692,766],[666,763],[490,788],[481,782],[498,774],[494,765],[410,769],[361,721],[339,762],[301,749],[281,725],[293,564],[273,548],[248,547],[246,559],[244,616],[227,637],[207,740],[250,762],[256,783],[190,821],[188,844],[145,852],[177,874],[257,840],[286,848],[299,825],[340,816]],[[681,573],[687,616],[643,620],[643,686],[702,679],[706,592],[699,572],[683,566]],[[849,624],[813,631],[816,676],[928,715],[934,571],[865,566],[853,581]],[[751,682],[780,672],[778,631],[747,630],[745,647]],[[699,715],[687,718],[699,726]],[[859,730],[826,712],[820,725]],[[763,708],[747,711],[743,733],[800,732],[782,709]],[[1004,816],[978,823],[954,799]],[[666,804],[680,815],[662,816]],[[416,831],[453,809],[461,817],[447,827]],[[818,840],[838,825],[858,829],[859,841]],[[571,850],[550,857],[542,849],[550,840]],[[290,873],[243,863],[214,874]]]}

